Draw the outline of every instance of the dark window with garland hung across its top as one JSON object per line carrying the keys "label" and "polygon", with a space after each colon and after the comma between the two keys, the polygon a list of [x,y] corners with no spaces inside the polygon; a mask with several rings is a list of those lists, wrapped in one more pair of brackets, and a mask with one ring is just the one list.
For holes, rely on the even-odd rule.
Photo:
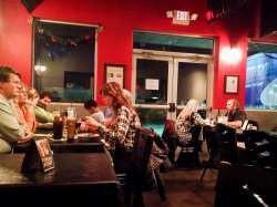
{"label": "dark window with garland hung across its top", "polygon": [[34,20],[33,37],[33,87],[52,92],[53,102],[92,99],[95,28]]}

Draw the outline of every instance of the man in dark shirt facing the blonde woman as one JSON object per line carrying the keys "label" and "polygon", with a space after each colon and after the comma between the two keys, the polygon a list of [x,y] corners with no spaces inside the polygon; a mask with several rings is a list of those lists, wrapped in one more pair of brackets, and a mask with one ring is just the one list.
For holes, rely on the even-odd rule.
{"label": "man in dark shirt facing the blonde woman", "polygon": [[228,100],[226,108],[228,110],[226,114],[228,116],[226,125],[235,128],[240,127],[247,117],[246,113],[239,108],[237,100]]}

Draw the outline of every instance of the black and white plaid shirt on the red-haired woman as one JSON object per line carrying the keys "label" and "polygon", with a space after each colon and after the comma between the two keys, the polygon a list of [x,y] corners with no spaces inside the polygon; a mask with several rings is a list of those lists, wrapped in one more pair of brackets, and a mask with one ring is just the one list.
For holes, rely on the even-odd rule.
{"label": "black and white plaid shirt on the red-haired woman", "polygon": [[141,121],[135,111],[121,106],[115,115],[111,127],[101,125],[98,131],[106,141],[115,141],[132,151],[134,144],[135,132],[141,128]]}

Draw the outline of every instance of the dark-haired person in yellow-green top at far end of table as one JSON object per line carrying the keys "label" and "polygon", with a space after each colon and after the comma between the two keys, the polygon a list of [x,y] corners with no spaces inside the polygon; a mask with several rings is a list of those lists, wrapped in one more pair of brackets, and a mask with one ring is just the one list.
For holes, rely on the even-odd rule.
{"label": "dark-haired person in yellow-green top at far end of table", "polygon": [[44,91],[40,93],[40,100],[34,108],[37,122],[39,123],[53,122],[54,120],[53,114],[47,112],[47,107],[51,103],[51,101],[52,101],[51,92]]}

